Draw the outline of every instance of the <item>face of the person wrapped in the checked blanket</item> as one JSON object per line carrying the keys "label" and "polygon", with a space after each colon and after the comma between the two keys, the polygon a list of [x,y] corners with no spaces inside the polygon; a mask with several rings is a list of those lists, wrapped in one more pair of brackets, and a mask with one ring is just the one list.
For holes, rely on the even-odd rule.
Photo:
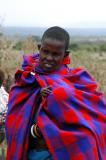
{"label": "face of the person wrapped in the checked blanket", "polygon": [[47,73],[61,67],[65,56],[65,42],[47,38],[40,48],[40,67]]}

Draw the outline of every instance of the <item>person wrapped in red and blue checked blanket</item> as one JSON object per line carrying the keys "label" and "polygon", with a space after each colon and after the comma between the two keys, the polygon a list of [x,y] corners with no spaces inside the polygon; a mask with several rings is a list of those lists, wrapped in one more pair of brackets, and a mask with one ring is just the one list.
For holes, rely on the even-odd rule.
{"label": "person wrapped in red and blue checked blanket", "polygon": [[105,160],[106,100],[92,76],[69,68],[69,34],[48,28],[24,56],[6,117],[7,160]]}

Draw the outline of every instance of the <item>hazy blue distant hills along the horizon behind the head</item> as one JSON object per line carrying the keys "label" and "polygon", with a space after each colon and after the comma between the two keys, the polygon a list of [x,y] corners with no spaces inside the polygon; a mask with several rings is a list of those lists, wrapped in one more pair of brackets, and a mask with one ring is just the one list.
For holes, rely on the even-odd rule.
{"label": "hazy blue distant hills along the horizon behind the head", "polygon": [[[47,28],[41,27],[4,27],[3,33],[9,36],[14,35],[36,35],[42,36]],[[106,28],[66,28],[70,36],[106,36]]]}

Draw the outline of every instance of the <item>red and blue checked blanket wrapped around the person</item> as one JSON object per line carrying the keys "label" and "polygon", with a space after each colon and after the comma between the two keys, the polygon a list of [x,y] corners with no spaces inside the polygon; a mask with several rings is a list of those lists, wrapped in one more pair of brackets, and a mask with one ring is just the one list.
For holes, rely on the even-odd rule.
{"label": "red and blue checked blanket wrapped around the person", "polygon": [[[41,87],[52,86],[37,113],[37,123],[54,160],[106,160],[106,101],[83,69],[45,74],[39,56],[25,57],[16,73],[6,119],[7,160],[27,160],[29,132]],[[31,71],[35,70],[35,74]]]}

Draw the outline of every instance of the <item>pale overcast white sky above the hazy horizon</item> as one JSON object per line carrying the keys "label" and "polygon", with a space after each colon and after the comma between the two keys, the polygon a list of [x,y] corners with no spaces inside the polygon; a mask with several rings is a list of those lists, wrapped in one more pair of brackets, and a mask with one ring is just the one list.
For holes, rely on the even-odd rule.
{"label": "pale overcast white sky above the hazy horizon", "polygon": [[106,27],[106,0],[0,0],[4,26]]}

